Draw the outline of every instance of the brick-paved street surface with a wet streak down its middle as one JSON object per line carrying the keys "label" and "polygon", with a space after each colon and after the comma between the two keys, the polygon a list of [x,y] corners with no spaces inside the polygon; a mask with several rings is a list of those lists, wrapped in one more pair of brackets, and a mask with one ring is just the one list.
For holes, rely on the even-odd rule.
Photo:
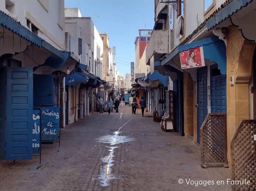
{"label": "brick-paved street surface with a wet streak down its middle", "polygon": [[231,191],[230,169],[202,169],[192,139],[162,131],[160,123],[142,117],[141,110],[131,114],[129,106],[87,116],[61,136],[59,152],[57,143],[43,145],[39,169],[38,157],[17,161],[13,169],[12,161],[0,161],[0,190]]}

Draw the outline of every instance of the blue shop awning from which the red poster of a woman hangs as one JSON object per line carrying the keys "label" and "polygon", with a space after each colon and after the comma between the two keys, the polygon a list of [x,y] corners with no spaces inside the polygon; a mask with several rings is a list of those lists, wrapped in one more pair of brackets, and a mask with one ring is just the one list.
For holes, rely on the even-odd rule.
{"label": "blue shop awning from which the red poster of a woman hangs", "polygon": [[[195,41],[189,44],[178,46],[165,60],[161,62],[162,66],[170,65],[172,68],[166,68],[170,72],[184,72],[191,74],[193,81],[196,81],[196,71],[199,67],[181,69],[180,54],[188,52],[190,49],[203,47],[203,58],[218,64],[221,74],[226,75],[226,45],[225,42],[219,40],[217,36],[212,36],[203,40]],[[175,62],[173,61],[175,59]],[[176,69],[176,70],[175,70]]]}

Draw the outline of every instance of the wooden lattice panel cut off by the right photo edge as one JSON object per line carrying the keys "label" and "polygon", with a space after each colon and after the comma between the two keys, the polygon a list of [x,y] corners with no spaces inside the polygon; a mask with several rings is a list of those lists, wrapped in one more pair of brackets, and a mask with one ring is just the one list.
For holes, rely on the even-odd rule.
{"label": "wooden lattice panel cut off by the right photo edge", "polygon": [[232,191],[256,190],[256,160],[253,135],[256,134],[256,120],[242,120],[232,140],[232,180],[250,181],[250,184],[232,185]]}

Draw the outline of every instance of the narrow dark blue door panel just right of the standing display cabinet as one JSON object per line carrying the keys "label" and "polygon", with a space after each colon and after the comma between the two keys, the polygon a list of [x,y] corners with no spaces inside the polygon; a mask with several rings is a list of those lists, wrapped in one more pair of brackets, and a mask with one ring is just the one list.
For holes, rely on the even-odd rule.
{"label": "narrow dark blue door panel just right of the standing display cabinet", "polygon": [[174,131],[179,132],[179,91],[178,81],[173,81]]}

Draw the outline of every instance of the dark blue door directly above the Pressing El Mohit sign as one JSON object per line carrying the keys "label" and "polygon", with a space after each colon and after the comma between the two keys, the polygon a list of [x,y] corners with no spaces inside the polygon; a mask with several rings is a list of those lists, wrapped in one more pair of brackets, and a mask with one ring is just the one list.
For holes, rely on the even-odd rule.
{"label": "dark blue door directly above the Pressing El Mohit sign", "polygon": [[53,75],[34,74],[34,107],[54,104]]}

